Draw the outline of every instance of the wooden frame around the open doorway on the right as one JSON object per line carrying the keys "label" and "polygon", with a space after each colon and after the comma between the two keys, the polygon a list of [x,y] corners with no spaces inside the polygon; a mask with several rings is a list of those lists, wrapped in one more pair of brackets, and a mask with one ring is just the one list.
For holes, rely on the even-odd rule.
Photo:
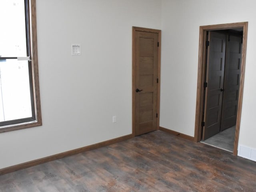
{"label": "wooden frame around the open doorway on the right", "polygon": [[244,72],[245,72],[245,61],[246,61],[246,46],[247,46],[247,31],[248,22],[229,23],[229,24],[217,24],[200,26],[199,32],[199,54],[198,54],[198,81],[197,81],[197,93],[196,93],[196,122],[195,122],[195,142],[199,142],[202,138],[202,117],[203,117],[203,106],[204,106],[204,80],[206,75],[206,36],[207,31],[210,30],[227,30],[232,28],[243,28],[243,44],[242,44],[242,59],[241,59],[241,75],[238,95],[238,108],[236,117],[236,132],[234,140],[233,154],[237,156],[238,149],[238,137],[240,130],[240,120],[242,112],[242,100],[244,90]]}

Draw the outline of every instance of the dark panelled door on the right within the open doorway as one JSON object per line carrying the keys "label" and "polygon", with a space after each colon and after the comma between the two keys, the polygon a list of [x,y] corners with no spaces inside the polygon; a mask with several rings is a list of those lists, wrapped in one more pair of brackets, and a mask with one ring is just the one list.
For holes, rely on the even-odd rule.
{"label": "dark panelled door on the right within the open doorway", "polygon": [[241,58],[242,36],[230,35],[226,42],[226,63],[220,130],[225,130],[236,125]]}

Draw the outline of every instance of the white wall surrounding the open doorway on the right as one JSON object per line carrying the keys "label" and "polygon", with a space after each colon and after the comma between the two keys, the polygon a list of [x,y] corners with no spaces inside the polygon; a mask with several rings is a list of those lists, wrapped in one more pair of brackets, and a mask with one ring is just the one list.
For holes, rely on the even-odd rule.
{"label": "white wall surrounding the open doorway on the right", "polygon": [[160,126],[194,136],[199,26],[248,21],[239,144],[256,149],[256,2],[162,0]]}

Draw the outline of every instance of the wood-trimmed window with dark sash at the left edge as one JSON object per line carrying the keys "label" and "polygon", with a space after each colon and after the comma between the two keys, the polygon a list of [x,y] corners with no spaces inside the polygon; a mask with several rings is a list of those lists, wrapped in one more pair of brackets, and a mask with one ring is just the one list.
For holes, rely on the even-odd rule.
{"label": "wood-trimmed window with dark sash at the left edge", "polygon": [[42,125],[36,0],[0,0],[0,133]]}

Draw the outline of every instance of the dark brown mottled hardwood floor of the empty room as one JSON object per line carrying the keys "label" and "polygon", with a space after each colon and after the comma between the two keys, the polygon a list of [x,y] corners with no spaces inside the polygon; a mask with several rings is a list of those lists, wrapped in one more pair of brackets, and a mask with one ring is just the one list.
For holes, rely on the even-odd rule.
{"label": "dark brown mottled hardwood floor of the empty room", "polygon": [[256,162],[156,131],[0,176],[1,192],[256,192]]}

